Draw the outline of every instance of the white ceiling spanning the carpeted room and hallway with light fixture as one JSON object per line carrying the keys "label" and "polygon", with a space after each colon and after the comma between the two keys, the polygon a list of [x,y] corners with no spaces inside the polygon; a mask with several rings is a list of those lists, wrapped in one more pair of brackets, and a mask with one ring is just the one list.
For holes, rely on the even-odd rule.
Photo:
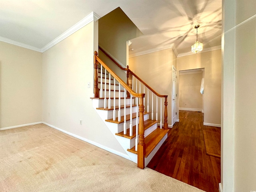
{"label": "white ceiling spanning the carpeted room and hallway with light fixture", "polygon": [[[222,0],[0,0],[0,37],[42,49],[95,12],[102,17],[117,7],[144,34],[130,40],[130,54],[174,43],[179,54],[198,41],[221,44]],[[1,39],[1,38],[0,38]]]}

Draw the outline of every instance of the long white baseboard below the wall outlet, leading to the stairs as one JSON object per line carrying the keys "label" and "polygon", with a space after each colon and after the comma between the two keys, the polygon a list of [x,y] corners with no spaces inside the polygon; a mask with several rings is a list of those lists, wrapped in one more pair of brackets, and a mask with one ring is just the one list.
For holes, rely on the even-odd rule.
{"label": "long white baseboard below the wall outlet, leading to the stairs", "polygon": [[80,137],[80,136],[78,136],[78,135],[76,135],[76,134],[73,134],[73,133],[70,133],[70,132],[68,132],[68,131],[62,130],[62,129],[57,128],[57,127],[55,127],[55,126],[53,126],[53,125],[50,125],[50,124],[48,124],[48,123],[46,123],[46,122],[42,122],[42,123],[45,124],[45,125],[47,125],[47,126],[49,126],[49,127],[51,127],[51,128],[54,128],[54,129],[59,130],[59,131],[61,131],[61,132],[63,132],[63,133],[66,133],[66,134],[68,134],[68,135],[70,135],[70,136],[72,136],[72,137],[78,138],[78,139],[80,139],[80,140],[82,140],[82,141],[85,141],[85,142],[87,142],[87,143],[90,143],[90,144],[92,144],[92,145],[94,145],[94,146],[97,146],[97,147],[99,147],[99,148],[102,148],[102,149],[104,149],[104,150],[106,150],[106,151],[108,151],[108,152],[110,152],[110,153],[116,154],[116,155],[118,155],[118,156],[121,156],[121,157],[123,157],[123,158],[128,159],[128,160],[131,161],[131,158],[130,158],[128,155],[126,155],[126,154],[120,153],[120,152],[118,152],[118,151],[116,151],[116,150],[110,149],[110,148],[108,148],[108,147],[106,147],[106,146],[103,146],[103,145],[101,145],[101,144],[98,144],[98,143],[96,143],[96,142],[94,142],[94,141],[88,140],[88,139],[83,138],[83,137]]}

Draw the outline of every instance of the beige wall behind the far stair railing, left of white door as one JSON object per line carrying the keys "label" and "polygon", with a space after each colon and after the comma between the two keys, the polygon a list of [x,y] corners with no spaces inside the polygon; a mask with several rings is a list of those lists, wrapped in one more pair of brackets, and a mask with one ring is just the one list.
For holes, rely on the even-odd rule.
{"label": "beige wall behind the far stair railing, left of white door", "polygon": [[[168,95],[168,125],[172,125],[172,61],[175,61],[172,57],[172,49],[166,49],[129,59],[130,70],[135,70],[135,74],[159,94]],[[149,103],[151,104],[151,92],[149,94]],[[147,99],[147,96],[145,98]],[[164,104],[164,100],[162,102]],[[154,103],[156,103],[156,99],[154,99]],[[160,106],[160,100],[158,104]],[[160,110],[158,110],[158,114],[160,115]]]}

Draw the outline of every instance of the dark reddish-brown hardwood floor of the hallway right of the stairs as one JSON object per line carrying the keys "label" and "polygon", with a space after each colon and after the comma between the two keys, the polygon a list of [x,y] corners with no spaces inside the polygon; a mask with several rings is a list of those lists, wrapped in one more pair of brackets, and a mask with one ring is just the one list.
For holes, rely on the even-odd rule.
{"label": "dark reddish-brown hardwood floor of the hallway right of the stairs", "polygon": [[203,118],[201,112],[180,111],[180,122],[147,167],[206,192],[219,192],[220,158],[206,154],[203,130],[220,132],[220,128],[204,126]]}

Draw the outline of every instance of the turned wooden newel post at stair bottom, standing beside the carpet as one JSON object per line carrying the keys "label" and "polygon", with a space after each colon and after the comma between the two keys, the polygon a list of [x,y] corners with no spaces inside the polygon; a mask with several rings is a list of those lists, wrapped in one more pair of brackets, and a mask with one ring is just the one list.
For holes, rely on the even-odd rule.
{"label": "turned wooden newel post at stair bottom, standing beside the carpet", "polygon": [[139,104],[140,112],[140,122],[139,122],[139,142],[138,142],[138,168],[145,168],[145,154],[146,154],[146,145],[144,143],[144,104],[143,97],[140,98]]}

